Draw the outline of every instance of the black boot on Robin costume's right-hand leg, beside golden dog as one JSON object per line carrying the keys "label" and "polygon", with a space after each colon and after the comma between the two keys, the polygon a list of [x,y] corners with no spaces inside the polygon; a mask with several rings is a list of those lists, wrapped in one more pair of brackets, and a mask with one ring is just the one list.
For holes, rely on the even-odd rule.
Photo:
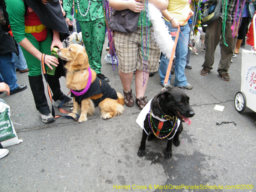
{"label": "black boot on Robin costume's right-hand leg, beside golden dog", "polygon": [[[48,84],[52,90],[52,99],[57,101],[63,101],[66,97],[66,95],[60,90],[60,81],[58,79],[58,77],[56,77],[55,75],[49,75],[47,74],[47,81]],[[67,97],[65,102],[69,102],[72,99],[70,97]]]}

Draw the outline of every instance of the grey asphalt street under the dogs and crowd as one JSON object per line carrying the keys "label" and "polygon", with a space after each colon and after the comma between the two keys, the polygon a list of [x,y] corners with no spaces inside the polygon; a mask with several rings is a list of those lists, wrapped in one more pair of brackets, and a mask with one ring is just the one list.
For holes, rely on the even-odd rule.
{"label": "grey asphalt street under the dogs and crowd", "polygon": [[[113,71],[104,60],[107,44],[106,36],[102,73],[110,79],[112,88],[123,94],[118,68]],[[251,50],[251,46],[244,49]],[[0,191],[256,191],[256,115],[249,108],[240,114],[234,105],[235,95],[241,90],[241,52],[242,48],[232,58],[230,81],[223,81],[217,72],[219,46],[213,70],[207,76],[200,75],[204,52],[192,52],[192,69],[185,69],[185,74],[193,89],[185,92],[196,115],[190,126],[184,124],[180,146],[172,147],[173,157],[168,160],[164,158],[166,139],[147,141],[146,156],[137,156],[142,129],[136,123],[140,113],[136,104],[124,106],[124,114],[111,119],[94,115],[78,123],[60,117],[44,124],[35,107],[28,73],[16,72],[18,84],[26,84],[28,89],[11,96],[4,92],[1,98],[10,105],[11,120],[17,123],[14,127],[23,142],[7,147],[9,154],[0,159]],[[60,82],[67,94],[65,78]],[[162,88],[156,72],[149,77],[146,100]],[[48,95],[47,99],[50,105]],[[214,110],[216,105],[224,106],[223,111]],[[55,111],[60,114],[57,108]],[[216,121],[236,125],[218,126]]]}

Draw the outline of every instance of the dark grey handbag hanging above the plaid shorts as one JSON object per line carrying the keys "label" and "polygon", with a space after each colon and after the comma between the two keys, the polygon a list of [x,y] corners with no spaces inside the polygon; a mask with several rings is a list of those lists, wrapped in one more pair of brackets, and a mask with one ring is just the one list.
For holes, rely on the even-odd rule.
{"label": "dark grey handbag hanging above the plaid shorts", "polygon": [[112,31],[132,33],[137,29],[140,13],[135,13],[130,9],[116,11],[112,9],[109,20],[109,28]]}

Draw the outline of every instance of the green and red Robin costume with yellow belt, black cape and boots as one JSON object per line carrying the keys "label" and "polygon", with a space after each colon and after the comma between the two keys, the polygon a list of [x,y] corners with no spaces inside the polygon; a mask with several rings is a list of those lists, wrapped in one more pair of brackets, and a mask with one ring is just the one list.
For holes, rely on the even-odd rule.
{"label": "green and red Robin costume with yellow belt, black cape and boots", "polygon": [[[60,32],[60,36],[62,33],[63,38],[68,36],[69,32],[59,0],[54,0],[46,5],[37,0],[5,0],[5,3],[13,36],[18,43],[27,38],[40,52],[51,55],[52,36],[50,29]],[[51,111],[44,93],[41,62],[23,47],[21,49],[28,64],[28,79],[36,109],[41,114],[47,115]],[[45,68],[47,70],[47,65]],[[66,97],[60,90],[59,77],[47,75],[48,84],[53,93],[52,99],[55,101],[62,101]],[[67,98],[66,102],[70,100],[71,98]]]}

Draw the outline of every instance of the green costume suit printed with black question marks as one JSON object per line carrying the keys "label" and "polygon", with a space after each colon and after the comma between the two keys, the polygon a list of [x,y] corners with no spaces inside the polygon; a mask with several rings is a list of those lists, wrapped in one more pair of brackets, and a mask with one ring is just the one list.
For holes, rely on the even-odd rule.
{"label": "green costume suit printed with black question marks", "polygon": [[[82,38],[84,41],[85,49],[89,58],[89,64],[91,68],[98,74],[101,73],[101,55],[103,44],[105,42],[106,23],[104,19],[103,4],[101,0],[75,0],[74,1],[74,18],[79,21]],[[67,18],[72,20],[71,9],[73,0],[63,0],[63,9],[67,14]],[[83,15],[86,14],[88,6],[89,11],[86,16],[82,16],[78,9]]]}

